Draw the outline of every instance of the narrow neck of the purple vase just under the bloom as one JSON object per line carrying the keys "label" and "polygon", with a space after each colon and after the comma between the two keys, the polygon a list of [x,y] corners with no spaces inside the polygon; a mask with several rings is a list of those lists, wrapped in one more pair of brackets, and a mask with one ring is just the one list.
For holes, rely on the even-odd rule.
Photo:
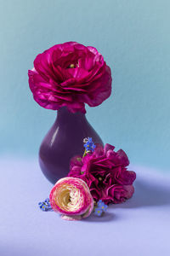
{"label": "narrow neck of the purple vase just under the bloom", "polygon": [[86,119],[85,113],[82,112],[76,112],[76,113],[71,113],[66,107],[59,108],[57,112],[57,119]]}

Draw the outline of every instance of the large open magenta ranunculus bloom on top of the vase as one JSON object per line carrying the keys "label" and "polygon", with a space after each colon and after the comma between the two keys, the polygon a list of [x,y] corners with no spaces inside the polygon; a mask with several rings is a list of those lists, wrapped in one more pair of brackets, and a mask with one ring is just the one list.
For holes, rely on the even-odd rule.
{"label": "large open magenta ranunculus bloom on top of the vase", "polygon": [[86,113],[111,96],[111,68],[98,50],[76,42],[56,44],[37,55],[28,71],[35,101],[43,108],[66,106]]}

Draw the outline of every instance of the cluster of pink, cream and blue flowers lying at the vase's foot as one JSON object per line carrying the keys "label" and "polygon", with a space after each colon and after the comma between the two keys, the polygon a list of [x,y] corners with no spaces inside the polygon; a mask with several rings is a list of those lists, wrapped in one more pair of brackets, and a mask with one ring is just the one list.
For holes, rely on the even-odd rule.
{"label": "cluster of pink, cream and blue flowers lying at the vase's foot", "polygon": [[136,173],[127,171],[127,154],[110,144],[94,145],[85,138],[83,156],[71,159],[68,177],[59,179],[49,200],[39,203],[42,211],[53,209],[66,220],[87,218],[92,212],[102,216],[111,203],[122,203],[133,196]]}

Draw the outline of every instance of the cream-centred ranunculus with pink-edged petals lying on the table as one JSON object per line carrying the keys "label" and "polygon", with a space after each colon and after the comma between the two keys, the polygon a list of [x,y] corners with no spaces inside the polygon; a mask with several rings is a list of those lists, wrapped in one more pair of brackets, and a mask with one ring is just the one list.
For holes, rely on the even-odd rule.
{"label": "cream-centred ranunculus with pink-edged petals lying on the table", "polygon": [[50,205],[66,220],[87,218],[94,209],[94,199],[87,183],[77,177],[64,177],[54,184]]}

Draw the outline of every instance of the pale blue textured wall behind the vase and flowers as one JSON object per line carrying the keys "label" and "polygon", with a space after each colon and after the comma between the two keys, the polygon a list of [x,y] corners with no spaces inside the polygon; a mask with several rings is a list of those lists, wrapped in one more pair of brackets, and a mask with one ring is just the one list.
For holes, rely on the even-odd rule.
{"label": "pale blue textured wall behind the vase and flowers", "polygon": [[133,164],[169,170],[170,2],[0,1],[0,154],[37,156],[56,112],[33,101],[27,70],[54,44],[77,41],[105,56],[113,92],[88,120]]}

